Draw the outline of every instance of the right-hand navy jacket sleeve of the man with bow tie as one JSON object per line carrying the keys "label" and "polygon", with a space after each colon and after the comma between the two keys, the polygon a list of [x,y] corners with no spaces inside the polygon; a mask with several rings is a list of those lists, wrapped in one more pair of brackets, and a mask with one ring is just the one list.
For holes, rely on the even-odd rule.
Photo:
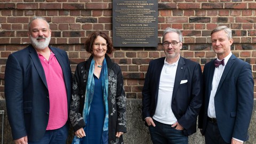
{"label": "right-hand navy jacket sleeve of the man with bow tie", "polygon": [[237,79],[237,111],[233,130],[233,138],[239,140],[248,139],[248,128],[253,110],[253,77],[251,65],[246,63]]}

